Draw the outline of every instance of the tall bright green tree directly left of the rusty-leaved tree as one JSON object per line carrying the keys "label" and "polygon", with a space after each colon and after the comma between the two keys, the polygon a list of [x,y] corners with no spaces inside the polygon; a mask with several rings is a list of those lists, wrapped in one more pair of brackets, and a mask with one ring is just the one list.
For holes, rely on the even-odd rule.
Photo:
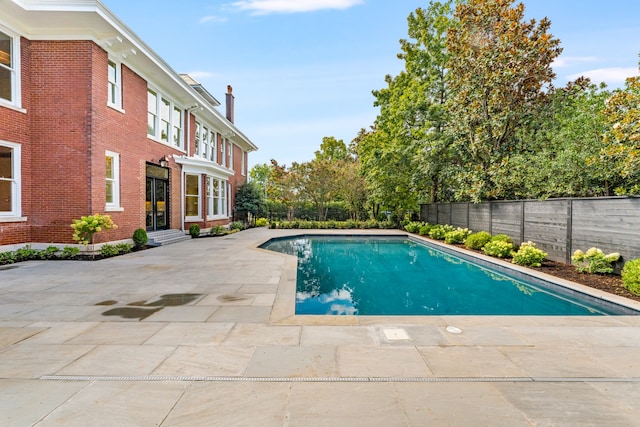
{"label": "tall bright green tree directly left of the rusty-leaved tree", "polygon": [[441,170],[448,165],[450,138],[444,133],[448,97],[446,34],[451,1],[432,2],[407,19],[409,39],[400,40],[405,69],[386,76],[374,91],[380,114],[362,137],[359,155],[371,202],[397,211],[416,211],[417,202],[435,200]]}

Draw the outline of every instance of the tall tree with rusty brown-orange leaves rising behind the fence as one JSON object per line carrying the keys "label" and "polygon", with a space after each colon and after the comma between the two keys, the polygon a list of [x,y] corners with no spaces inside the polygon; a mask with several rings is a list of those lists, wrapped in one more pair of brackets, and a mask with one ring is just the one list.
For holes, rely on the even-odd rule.
{"label": "tall tree with rusty brown-orange leaves rising behind the fence", "polygon": [[524,21],[514,0],[468,0],[449,30],[449,122],[461,165],[457,197],[499,197],[498,176],[515,147],[516,131],[546,100],[560,41],[543,18]]}

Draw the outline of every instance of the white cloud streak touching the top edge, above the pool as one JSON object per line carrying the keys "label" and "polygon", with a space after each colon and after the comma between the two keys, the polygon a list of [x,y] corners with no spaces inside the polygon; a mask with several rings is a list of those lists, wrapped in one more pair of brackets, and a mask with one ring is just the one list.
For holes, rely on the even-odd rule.
{"label": "white cloud streak touching the top edge, above the pool", "polygon": [[348,9],[364,0],[241,0],[231,3],[236,9],[252,12],[254,15],[269,13],[313,12],[322,9]]}

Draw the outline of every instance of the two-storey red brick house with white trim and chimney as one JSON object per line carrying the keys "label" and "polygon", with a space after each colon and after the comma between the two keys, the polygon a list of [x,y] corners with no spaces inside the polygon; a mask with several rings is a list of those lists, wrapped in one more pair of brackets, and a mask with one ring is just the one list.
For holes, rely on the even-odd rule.
{"label": "two-storey red brick house with white trim and chimney", "polygon": [[97,0],[0,0],[0,251],[229,224],[257,147]]}

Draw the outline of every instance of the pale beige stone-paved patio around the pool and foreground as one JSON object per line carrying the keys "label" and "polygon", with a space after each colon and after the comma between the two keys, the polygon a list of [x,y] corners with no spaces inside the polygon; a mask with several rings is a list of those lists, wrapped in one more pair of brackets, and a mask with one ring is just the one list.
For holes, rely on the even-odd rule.
{"label": "pale beige stone-paved patio around the pool and foreground", "polygon": [[297,233],[0,267],[0,425],[640,425],[640,316],[296,316]]}

